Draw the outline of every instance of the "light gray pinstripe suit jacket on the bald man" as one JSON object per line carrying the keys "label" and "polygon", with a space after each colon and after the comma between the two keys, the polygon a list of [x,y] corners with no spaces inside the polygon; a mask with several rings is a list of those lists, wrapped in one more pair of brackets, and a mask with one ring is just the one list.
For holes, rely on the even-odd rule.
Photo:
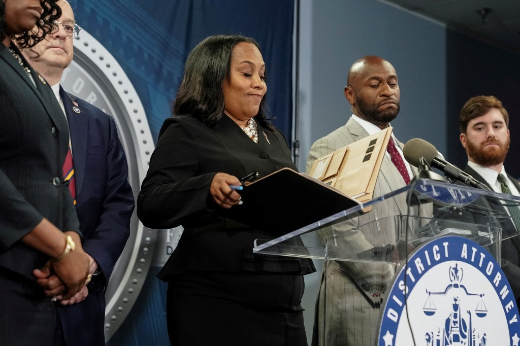
{"label": "light gray pinstripe suit jacket on the bald man", "polygon": [[[367,131],[350,118],[346,125],[313,144],[307,159],[307,172],[317,158],[367,136]],[[415,167],[412,170],[416,172]],[[404,186],[404,179],[385,155],[374,197]],[[396,223],[391,217],[408,213],[406,196],[401,194],[374,205],[367,214],[318,231],[320,242],[325,245],[327,239],[334,236],[337,246],[357,251],[392,244],[395,243]],[[362,227],[368,223],[368,227]],[[394,273],[395,268],[389,264],[327,261],[317,301],[313,345],[373,346],[380,322],[381,293],[385,290],[378,283],[391,280]]]}

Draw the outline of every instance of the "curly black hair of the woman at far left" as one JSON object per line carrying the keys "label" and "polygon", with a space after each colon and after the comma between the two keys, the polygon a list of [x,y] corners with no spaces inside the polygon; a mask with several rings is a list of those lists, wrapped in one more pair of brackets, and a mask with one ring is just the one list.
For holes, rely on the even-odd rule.
{"label": "curly black hair of the woman at far left", "polygon": [[[16,1],[16,0],[11,0]],[[46,35],[55,30],[54,21],[61,17],[61,8],[57,4],[58,0],[40,0],[43,8],[41,19],[36,22],[36,29],[20,33],[14,36],[14,41],[20,48],[33,47],[42,41]],[[7,23],[5,22],[5,1],[0,0],[0,40],[4,40],[7,33]]]}

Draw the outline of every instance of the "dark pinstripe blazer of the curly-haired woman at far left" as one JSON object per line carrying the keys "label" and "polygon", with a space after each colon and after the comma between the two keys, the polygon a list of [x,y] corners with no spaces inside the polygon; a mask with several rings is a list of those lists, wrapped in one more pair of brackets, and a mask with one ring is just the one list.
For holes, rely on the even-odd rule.
{"label": "dark pinstripe blazer of the curly-haired woman at far left", "polygon": [[48,257],[20,238],[44,217],[63,231],[79,232],[70,192],[62,184],[69,131],[48,84],[33,70],[35,87],[4,45],[0,71],[0,270],[33,281],[33,269]]}

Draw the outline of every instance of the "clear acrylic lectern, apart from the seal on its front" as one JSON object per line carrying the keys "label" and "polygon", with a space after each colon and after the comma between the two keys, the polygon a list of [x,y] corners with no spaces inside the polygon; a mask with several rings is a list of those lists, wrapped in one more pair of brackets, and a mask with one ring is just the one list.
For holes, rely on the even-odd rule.
{"label": "clear acrylic lectern, apart from the seal on its front", "polygon": [[[433,239],[469,238],[501,263],[501,241],[517,235],[514,227],[504,226],[511,222],[507,207],[518,205],[520,197],[420,179],[276,239],[256,239],[253,251],[322,259],[324,277],[345,270],[371,304],[378,305],[414,249]],[[298,236],[305,245],[295,245],[301,243],[293,239]],[[320,289],[323,297],[334,295],[327,280]],[[326,321],[319,323],[327,330]],[[328,344],[328,336],[322,338],[320,344]]]}

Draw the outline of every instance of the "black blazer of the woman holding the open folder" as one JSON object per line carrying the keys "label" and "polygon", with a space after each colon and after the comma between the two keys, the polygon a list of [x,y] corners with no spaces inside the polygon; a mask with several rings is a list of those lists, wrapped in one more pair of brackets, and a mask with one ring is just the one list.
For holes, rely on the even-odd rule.
{"label": "black blazer of the woman holding the open folder", "polygon": [[[210,196],[217,172],[240,179],[254,170],[260,177],[283,167],[297,170],[281,132],[262,126],[258,131],[256,144],[224,114],[213,128],[189,115],[164,122],[137,200],[137,215],[147,227],[184,227],[158,275],[163,280],[189,270],[303,274],[315,270],[310,260],[253,255],[254,239],[274,236],[233,221],[233,213],[242,206],[221,209]],[[258,210],[258,217],[269,215]]]}

